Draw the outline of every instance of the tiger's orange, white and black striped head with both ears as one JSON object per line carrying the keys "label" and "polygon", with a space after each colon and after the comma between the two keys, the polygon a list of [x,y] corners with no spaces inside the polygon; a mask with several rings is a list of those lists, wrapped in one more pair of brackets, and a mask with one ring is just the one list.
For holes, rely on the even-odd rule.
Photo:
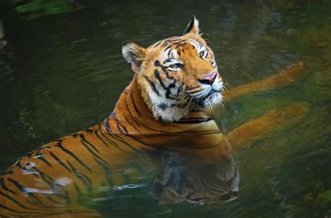
{"label": "tiger's orange, white and black striped head with both ears", "polygon": [[126,41],[122,53],[156,119],[172,122],[189,111],[221,103],[223,81],[196,17],[184,36],[166,38],[147,48]]}

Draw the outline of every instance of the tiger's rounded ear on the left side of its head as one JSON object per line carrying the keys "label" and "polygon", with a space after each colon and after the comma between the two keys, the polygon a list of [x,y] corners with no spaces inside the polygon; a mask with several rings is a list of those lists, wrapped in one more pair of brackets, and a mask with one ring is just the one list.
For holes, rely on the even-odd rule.
{"label": "tiger's rounded ear on the left side of its head", "polygon": [[145,56],[145,48],[134,42],[125,41],[122,44],[122,54],[124,59],[130,63],[133,70],[138,70]]}

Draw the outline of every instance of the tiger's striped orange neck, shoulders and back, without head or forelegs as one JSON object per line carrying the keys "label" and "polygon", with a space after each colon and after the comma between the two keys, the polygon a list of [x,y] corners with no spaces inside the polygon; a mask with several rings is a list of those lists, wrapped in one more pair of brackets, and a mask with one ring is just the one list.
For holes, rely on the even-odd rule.
{"label": "tiger's striped orange neck, shoulders and back, without head or forelegs", "polygon": [[[115,109],[117,113],[100,125],[47,143],[13,164],[0,178],[0,215],[47,217],[77,212],[89,217],[88,210],[74,210],[69,205],[78,205],[80,198],[100,196],[100,187],[135,182],[112,171],[132,169],[134,166],[125,160],[142,150],[163,146],[175,150],[184,143],[205,146],[208,144],[205,141],[218,145],[223,140],[214,120],[201,111],[192,112],[177,123],[155,120],[135,86],[133,79],[119,98],[118,104],[126,107],[124,113],[120,112],[121,107],[116,107],[120,110]],[[122,118],[127,119],[127,125],[123,125]],[[133,122],[140,125],[133,126],[130,124]],[[131,131],[135,133],[123,134]],[[137,134],[138,131],[141,133]],[[220,154],[224,153],[208,155]]]}

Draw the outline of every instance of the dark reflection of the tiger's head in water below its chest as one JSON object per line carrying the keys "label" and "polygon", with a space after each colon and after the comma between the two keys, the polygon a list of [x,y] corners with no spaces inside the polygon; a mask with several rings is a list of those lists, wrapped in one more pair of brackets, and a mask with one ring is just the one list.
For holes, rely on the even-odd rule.
{"label": "dark reflection of the tiger's head in water below its chest", "polygon": [[238,197],[240,174],[232,157],[207,159],[158,150],[149,153],[157,167],[149,193],[158,205],[187,201],[196,205]]}

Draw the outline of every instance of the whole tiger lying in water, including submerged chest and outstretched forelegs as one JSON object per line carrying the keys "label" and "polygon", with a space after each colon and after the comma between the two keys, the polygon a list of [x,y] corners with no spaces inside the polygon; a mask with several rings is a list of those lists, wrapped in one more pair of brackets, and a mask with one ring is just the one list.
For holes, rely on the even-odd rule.
{"label": "whole tiger lying in water, including submerged chest and outstretched forelegs", "polygon": [[[208,107],[289,84],[302,77],[304,64],[223,91],[215,56],[200,35],[196,17],[182,36],[147,48],[126,41],[122,53],[134,75],[110,116],[36,148],[10,166],[0,177],[1,217],[101,217],[82,207],[80,199],[100,196],[100,187],[126,184],[128,175],[116,172],[132,168],[143,153],[155,166],[149,187],[156,203],[230,201],[237,198],[239,184],[231,153],[296,123],[309,111],[308,104],[297,102],[224,136],[205,114]],[[212,172],[228,170],[209,182],[197,182],[205,166],[213,167]],[[130,176],[134,173],[139,172]]]}

